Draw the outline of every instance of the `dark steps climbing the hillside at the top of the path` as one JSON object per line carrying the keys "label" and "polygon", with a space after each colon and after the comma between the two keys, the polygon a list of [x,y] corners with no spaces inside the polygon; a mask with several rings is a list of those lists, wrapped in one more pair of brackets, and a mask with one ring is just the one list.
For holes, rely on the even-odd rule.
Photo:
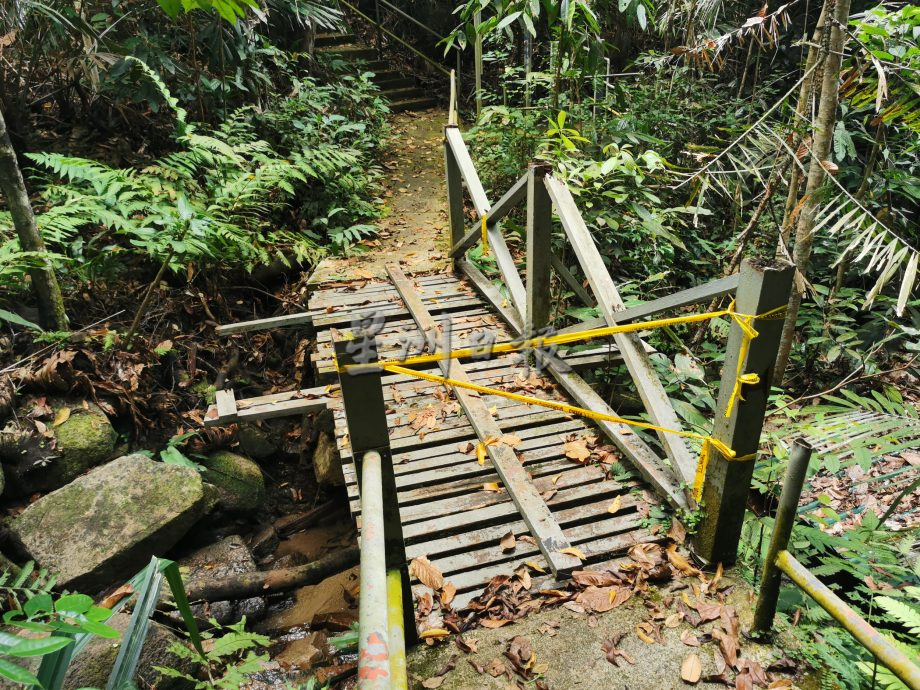
{"label": "dark steps climbing the hillside at the top of the path", "polygon": [[318,34],[314,46],[320,53],[335,55],[351,62],[360,61],[364,69],[374,73],[373,81],[390,102],[390,110],[394,113],[425,110],[438,103],[419,87],[414,77],[393,69],[388,60],[378,60],[377,51],[361,43],[354,34]]}

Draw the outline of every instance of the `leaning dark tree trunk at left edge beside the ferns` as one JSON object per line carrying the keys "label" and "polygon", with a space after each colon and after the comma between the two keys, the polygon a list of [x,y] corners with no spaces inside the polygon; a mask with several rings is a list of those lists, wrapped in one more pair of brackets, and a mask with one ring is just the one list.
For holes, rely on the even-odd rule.
{"label": "leaning dark tree trunk at left edge beside the ferns", "polygon": [[[44,252],[45,243],[38,234],[35,214],[26,192],[26,184],[19,170],[16,152],[6,130],[6,121],[0,112],[0,191],[6,197],[6,203],[13,217],[13,227],[19,238],[19,246],[24,252]],[[56,331],[67,330],[67,314],[64,311],[64,298],[58,285],[51,263],[46,261],[44,268],[29,271],[32,289],[38,299],[38,311],[44,328]]]}

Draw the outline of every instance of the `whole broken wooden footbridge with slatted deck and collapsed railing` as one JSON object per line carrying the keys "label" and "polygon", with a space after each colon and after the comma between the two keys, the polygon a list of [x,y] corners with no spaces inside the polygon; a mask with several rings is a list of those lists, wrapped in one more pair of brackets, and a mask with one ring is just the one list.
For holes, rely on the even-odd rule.
{"label": "whole broken wooden footbridge with slatted deck and collapsed railing", "polygon": [[[545,333],[554,280],[602,314],[559,331],[566,334],[644,324],[729,294],[739,314],[766,314],[786,304],[792,272],[746,262],[739,275],[626,309],[571,192],[548,167],[534,164],[492,204],[456,126],[445,128],[444,155],[453,270],[412,275],[411,266],[389,265],[387,279],[316,286],[303,313],[222,327],[228,334],[311,328],[312,361],[318,382],[326,385],[248,400],[222,391],[206,423],[331,409],[351,512],[361,529],[362,561],[365,542],[380,540],[387,567],[400,573],[398,586],[408,584],[407,563],[426,557],[456,587],[452,606],[459,609],[492,577],[525,563],[531,575],[543,572],[549,583],[660,538],[648,520],[657,503],[686,512],[698,507],[691,488],[699,449],[691,450],[680,434],[643,433],[624,423],[579,374],[605,362],[625,364],[647,422],[682,431],[639,327],[614,328],[600,345],[595,340],[549,353],[488,356],[486,345]],[[526,253],[515,257],[501,221],[521,205]],[[468,208],[476,219],[469,227]],[[561,233],[554,230],[557,219]],[[553,253],[554,232],[565,238],[577,266]],[[484,275],[465,258],[479,243],[494,255],[497,276]],[[734,458],[710,453],[702,486],[705,510],[694,547],[711,562],[735,558],[782,320],[753,319],[749,325],[758,333],[753,340],[737,320],[730,330],[713,430],[688,434],[711,433],[720,448],[734,451]],[[401,373],[375,364],[463,348],[477,351],[409,364],[413,371]],[[458,384],[444,386],[437,377]],[[477,392],[469,384],[492,391]],[[595,419],[499,392],[565,402]],[[613,471],[619,462],[635,472]],[[412,586],[420,585],[412,580]],[[403,603],[411,613],[407,592]]]}

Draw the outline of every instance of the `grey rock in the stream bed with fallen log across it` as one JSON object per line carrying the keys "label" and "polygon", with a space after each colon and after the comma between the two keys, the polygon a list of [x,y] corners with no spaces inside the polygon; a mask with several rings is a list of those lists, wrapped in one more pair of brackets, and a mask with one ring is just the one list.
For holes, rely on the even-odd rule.
{"label": "grey rock in the stream bed with fallen log across it", "polygon": [[[198,549],[179,560],[186,582],[201,578],[221,580],[234,575],[256,571],[249,547],[239,535],[231,535],[219,542]],[[265,598],[252,597],[242,601],[212,601],[192,606],[196,618],[215,618],[221,625],[237,623],[246,616],[254,621],[265,615]]]}

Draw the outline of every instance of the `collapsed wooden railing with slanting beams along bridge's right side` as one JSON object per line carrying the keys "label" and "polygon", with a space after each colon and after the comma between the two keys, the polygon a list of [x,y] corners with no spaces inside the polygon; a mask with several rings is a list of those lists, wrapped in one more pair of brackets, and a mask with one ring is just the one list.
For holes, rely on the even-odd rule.
{"label": "collapsed wooden railing with slanting beams along bridge's right side", "polygon": [[[739,274],[705,285],[668,295],[627,309],[595,245],[571,191],[565,181],[555,176],[546,163],[535,162],[493,205],[483,188],[469,150],[457,126],[444,130],[444,159],[447,202],[450,216],[450,256],[456,270],[464,273],[502,315],[518,335],[533,335],[550,324],[552,314],[551,281],[555,272],[586,306],[600,310],[600,319],[578,324],[566,331],[587,330],[641,321],[664,311],[709,302],[715,297],[733,294],[735,309],[741,314],[765,314],[783,307],[788,300],[793,269],[784,265],[763,265],[746,261]],[[466,198],[475,220],[467,223]],[[519,261],[508,248],[501,221],[514,208],[525,206],[526,251]],[[498,279],[508,299],[493,280],[486,277],[467,258],[466,253],[482,242],[482,221],[486,223],[489,252],[498,268]],[[558,219],[565,241],[577,258],[588,289],[552,251],[554,222]],[[524,276],[522,278],[522,275]],[[759,336],[751,342],[743,366],[739,368],[742,331],[733,324],[727,344],[714,438],[733,449],[738,462],[716,452],[710,460],[702,491],[704,516],[696,536],[697,554],[708,561],[732,562],[741,534],[747,494],[759,447],[772,379],[772,363],[779,345],[781,320],[757,320]],[[657,426],[681,429],[682,425],[649,360],[645,344],[636,334],[613,335],[616,347],[642,399],[649,419]],[[588,383],[574,371],[548,365],[548,371],[583,408],[606,415],[615,412]],[[756,374],[757,384],[743,388],[743,400],[729,408],[737,373]],[[753,377],[749,377],[753,380]],[[726,415],[726,410],[730,414]],[[620,449],[625,458],[672,506],[691,511],[698,506],[689,488],[693,485],[697,457],[680,436],[659,433],[658,442],[664,458],[629,427],[599,422],[601,430]]]}

